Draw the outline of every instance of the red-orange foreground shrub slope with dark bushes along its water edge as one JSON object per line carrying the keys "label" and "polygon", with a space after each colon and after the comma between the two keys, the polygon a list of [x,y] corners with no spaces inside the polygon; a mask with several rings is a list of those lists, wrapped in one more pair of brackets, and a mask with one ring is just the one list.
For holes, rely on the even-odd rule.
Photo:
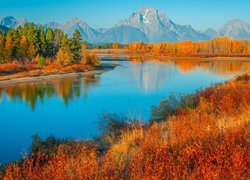
{"label": "red-orange foreground shrub slope with dark bushes along its water edge", "polygon": [[93,141],[42,140],[0,179],[247,179],[250,75],[152,107],[148,124],[104,114]]}

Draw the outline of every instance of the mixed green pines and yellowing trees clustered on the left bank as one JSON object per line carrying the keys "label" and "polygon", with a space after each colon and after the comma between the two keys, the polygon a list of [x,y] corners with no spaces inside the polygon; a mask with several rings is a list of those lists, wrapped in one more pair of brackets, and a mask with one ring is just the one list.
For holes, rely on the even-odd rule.
{"label": "mixed green pines and yellowing trees clustered on the left bank", "polygon": [[[34,23],[24,27],[9,29],[0,33],[0,64],[18,61],[19,63],[57,61],[60,65],[88,63],[93,59],[85,51],[86,44],[79,30],[69,37],[62,30],[36,26]],[[95,59],[96,60],[96,59]]]}

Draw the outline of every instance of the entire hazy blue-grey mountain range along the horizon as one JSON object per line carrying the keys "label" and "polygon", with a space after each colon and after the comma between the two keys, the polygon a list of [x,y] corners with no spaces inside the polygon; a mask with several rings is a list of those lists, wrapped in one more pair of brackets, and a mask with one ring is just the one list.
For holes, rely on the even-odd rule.
{"label": "entire hazy blue-grey mountain range along the horizon", "polygon": [[[27,22],[28,20],[24,18],[16,19],[12,16],[0,18],[0,25],[7,28],[23,26]],[[62,29],[69,36],[72,36],[73,32],[79,29],[83,39],[89,43],[201,41],[219,36],[228,36],[231,39],[250,39],[250,24],[242,20],[230,20],[218,31],[209,28],[201,32],[193,29],[190,25],[176,24],[165,13],[153,7],[143,7],[128,19],[119,21],[109,29],[94,29],[87,22],[78,18],[72,18],[62,24],[49,22],[43,26]]]}

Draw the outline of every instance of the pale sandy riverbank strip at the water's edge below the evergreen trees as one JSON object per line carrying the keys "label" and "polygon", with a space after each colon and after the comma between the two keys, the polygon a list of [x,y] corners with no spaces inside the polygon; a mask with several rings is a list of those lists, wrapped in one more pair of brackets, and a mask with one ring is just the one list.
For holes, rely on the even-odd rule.
{"label": "pale sandy riverbank strip at the water's edge below the evergreen trees", "polygon": [[57,74],[46,74],[46,75],[34,75],[29,74],[28,77],[23,77],[23,74],[13,74],[0,76],[0,87],[16,85],[19,83],[29,83],[29,82],[40,82],[40,81],[48,81],[48,80],[57,80],[64,78],[78,78],[87,75],[97,75],[102,74],[107,71],[113,70],[117,65],[115,64],[103,64],[99,68],[95,68],[93,70],[86,70],[84,72],[68,72],[68,73],[57,73]]}

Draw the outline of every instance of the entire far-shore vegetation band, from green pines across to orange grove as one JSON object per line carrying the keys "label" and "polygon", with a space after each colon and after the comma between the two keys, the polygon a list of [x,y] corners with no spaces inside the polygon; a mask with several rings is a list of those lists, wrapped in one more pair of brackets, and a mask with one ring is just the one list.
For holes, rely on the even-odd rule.
{"label": "entire far-shore vegetation band, from green pines across to orange grove", "polygon": [[[0,84],[39,76],[62,76],[102,69],[97,55],[125,55],[130,61],[143,60],[235,60],[250,61],[250,41],[227,37],[201,42],[163,42],[128,45],[108,43],[93,45],[84,42],[79,30],[72,37],[59,29],[52,30],[34,23],[0,33]],[[80,73],[81,72],[81,73]],[[53,77],[52,76],[52,77]],[[70,76],[70,75],[69,75]]]}

